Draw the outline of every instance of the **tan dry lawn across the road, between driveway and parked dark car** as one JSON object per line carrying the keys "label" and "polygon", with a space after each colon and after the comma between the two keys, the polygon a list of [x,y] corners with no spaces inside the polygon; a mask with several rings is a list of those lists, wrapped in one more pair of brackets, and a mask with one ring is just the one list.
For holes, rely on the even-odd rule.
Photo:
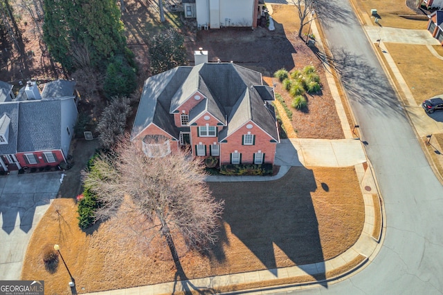
{"label": "tan dry lawn across the road, between driveway and parked dark car", "polygon": [[415,102],[443,93],[436,77],[443,73],[443,60],[438,59],[424,45],[386,43],[386,49],[413,93]]}

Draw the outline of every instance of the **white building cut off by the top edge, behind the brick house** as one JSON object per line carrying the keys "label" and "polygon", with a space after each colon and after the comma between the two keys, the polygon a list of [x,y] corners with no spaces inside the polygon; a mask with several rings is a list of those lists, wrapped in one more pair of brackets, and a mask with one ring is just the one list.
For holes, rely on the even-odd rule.
{"label": "white building cut off by the top edge, behind the brick house", "polygon": [[197,17],[199,28],[257,27],[263,0],[183,0],[185,17]]}

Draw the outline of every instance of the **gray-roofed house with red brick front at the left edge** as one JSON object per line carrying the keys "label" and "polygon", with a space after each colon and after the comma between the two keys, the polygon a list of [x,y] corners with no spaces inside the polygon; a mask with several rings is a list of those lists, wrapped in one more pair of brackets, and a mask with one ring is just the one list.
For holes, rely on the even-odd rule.
{"label": "gray-roofed house with red brick front at the left edge", "polygon": [[0,168],[57,166],[66,162],[77,120],[75,82],[35,82],[0,102]]}

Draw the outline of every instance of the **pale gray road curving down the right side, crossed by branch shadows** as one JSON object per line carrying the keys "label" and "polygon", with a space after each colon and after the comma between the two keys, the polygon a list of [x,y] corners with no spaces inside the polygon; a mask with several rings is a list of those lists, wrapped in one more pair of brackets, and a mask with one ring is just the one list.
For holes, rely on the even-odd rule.
{"label": "pale gray road curving down the right side, crossed by branch shadows", "polygon": [[350,3],[323,3],[321,23],[383,196],[386,238],[358,274],[280,294],[443,294],[443,187]]}

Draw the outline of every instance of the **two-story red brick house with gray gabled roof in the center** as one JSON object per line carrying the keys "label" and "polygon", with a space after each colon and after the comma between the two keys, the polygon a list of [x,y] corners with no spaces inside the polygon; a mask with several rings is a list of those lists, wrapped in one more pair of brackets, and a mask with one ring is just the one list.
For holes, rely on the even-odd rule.
{"label": "two-story red brick house with gray gabled roof in the center", "polygon": [[274,162],[280,142],[273,88],[232,63],[179,66],[145,81],[132,141],[150,157],[190,147],[220,164]]}

